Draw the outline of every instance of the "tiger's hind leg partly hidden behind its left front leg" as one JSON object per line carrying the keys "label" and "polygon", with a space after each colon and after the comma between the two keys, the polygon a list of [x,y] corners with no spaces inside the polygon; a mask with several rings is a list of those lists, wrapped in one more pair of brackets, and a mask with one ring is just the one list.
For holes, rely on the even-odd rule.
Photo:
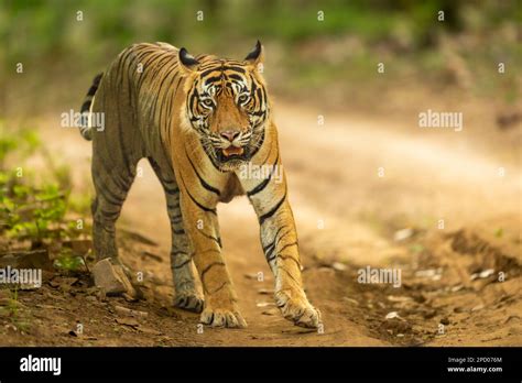
{"label": "tiger's hind leg partly hidden behind its left front leg", "polygon": [[170,168],[160,168],[152,158],[149,158],[149,162],[165,190],[166,208],[171,221],[171,270],[175,289],[174,306],[193,313],[202,313],[204,300],[196,291],[191,242],[183,223],[180,189],[174,173]]}

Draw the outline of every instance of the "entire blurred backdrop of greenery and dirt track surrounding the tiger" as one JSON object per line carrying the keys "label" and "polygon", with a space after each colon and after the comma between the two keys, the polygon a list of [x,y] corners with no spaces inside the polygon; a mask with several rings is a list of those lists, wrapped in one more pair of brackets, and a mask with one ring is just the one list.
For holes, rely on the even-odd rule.
{"label": "entire blurred backdrop of greenery and dirt track surrounding the tiger", "polygon": [[[25,331],[0,326],[0,339],[521,346],[521,0],[2,0],[0,265],[13,251],[48,255],[58,282],[39,292],[42,302],[63,300],[88,318],[109,315],[86,298],[95,263],[90,143],[62,125],[62,113],[77,111],[94,76],[132,43],[241,59],[259,39],[307,295],[327,331],[292,336],[267,309],[271,273],[246,198],[219,206],[219,217],[251,330],[192,337],[195,317],[165,319],[170,227],[144,161],[118,223],[119,244],[126,264],[146,271],[146,326],[173,338],[105,321],[90,322],[94,342],[57,337],[70,333],[70,313],[50,306],[39,325],[29,309],[12,309],[11,296],[3,300],[11,308],[2,308],[0,289],[0,325]],[[427,110],[461,113],[463,129],[421,128]],[[368,265],[402,270],[403,287],[357,283],[357,270]],[[264,285],[252,286],[246,276],[259,271]],[[70,287],[70,277],[83,282]],[[40,295],[23,298],[30,306]],[[401,319],[388,320],[394,311]]]}

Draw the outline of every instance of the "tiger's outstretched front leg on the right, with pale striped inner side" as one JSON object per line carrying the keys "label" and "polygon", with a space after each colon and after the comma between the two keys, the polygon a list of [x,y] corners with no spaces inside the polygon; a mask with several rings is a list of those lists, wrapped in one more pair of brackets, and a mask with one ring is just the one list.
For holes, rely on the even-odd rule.
{"label": "tiger's outstretched front leg on the right, with pale striped inner side", "polygon": [[239,178],[258,215],[261,244],[275,277],[275,303],[295,325],[317,328],[320,313],[309,304],[303,289],[297,232],[279,154],[273,153],[272,158],[269,155],[262,165],[272,168],[268,178],[255,179],[241,173]]}

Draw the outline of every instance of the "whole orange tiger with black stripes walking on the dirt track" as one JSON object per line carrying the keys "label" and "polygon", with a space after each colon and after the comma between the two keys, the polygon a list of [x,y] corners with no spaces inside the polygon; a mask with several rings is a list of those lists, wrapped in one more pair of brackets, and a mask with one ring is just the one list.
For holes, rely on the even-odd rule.
{"label": "whole orange tiger with black stripes walking on the dirt track", "polygon": [[[273,176],[282,158],[263,63],[259,41],[243,61],[138,43],[96,76],[80,109],[80,133],[93,141],[94,252],[98,262],[121,264],[115,225],[137,164],[148,158],[166,196],[174,307],[198,313],[207,326],[247,327],[222,256],[216,210],[218,203],[246,195],[274,275],[276,306],[294,325],[318,328],[320,311],[303,287],[286,176]],[[104,127],[89,122],[94,113],[105,114]],[[254,177],[241,172],[248,164],[272,171]]]}

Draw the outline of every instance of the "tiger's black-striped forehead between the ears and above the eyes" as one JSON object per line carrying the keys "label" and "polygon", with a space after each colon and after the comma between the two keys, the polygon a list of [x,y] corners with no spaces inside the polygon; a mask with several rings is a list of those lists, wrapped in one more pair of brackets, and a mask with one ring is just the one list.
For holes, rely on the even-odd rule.
{"label": "tiger's black-striped forehead between the ears and above the eyes", "polygon": [[252,75],[242,62],[224,58],[200,59],[198,87],[211,96],[224,90],[227,94],[244,91],[252,81]]}

